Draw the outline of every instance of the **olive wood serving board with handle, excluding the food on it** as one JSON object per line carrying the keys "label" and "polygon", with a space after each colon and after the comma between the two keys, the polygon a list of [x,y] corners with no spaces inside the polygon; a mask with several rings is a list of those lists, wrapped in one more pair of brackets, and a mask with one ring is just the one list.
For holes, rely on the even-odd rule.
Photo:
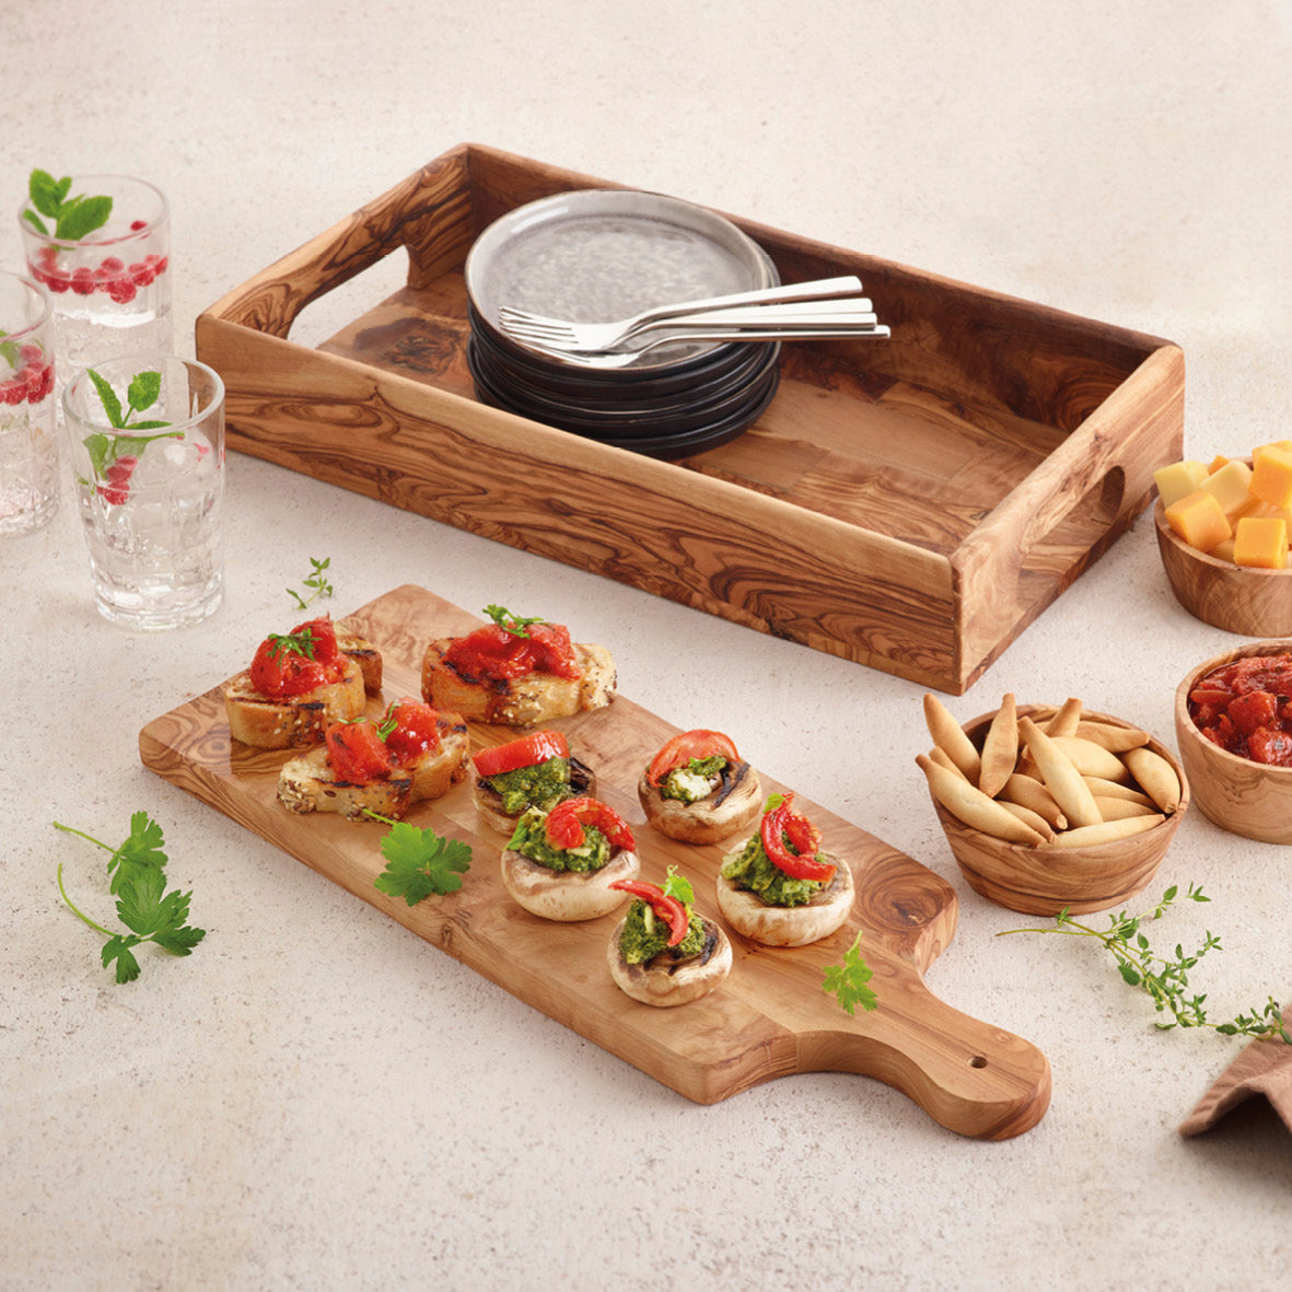
{"label": "olive wood serving board with handle, excluding the food on it", "polygon": [[[479,620],[422,588],[404,585],[346,623],[381,649],[385,695],[394,699],[420,694],[428,641],[468,632]],[[676,864],[693,881],[696,906],[721,922],[713,893],[724,846],[664,837],[643,823],[637,802],[642,767],[680,729],[621,694],[609,708],[550,726],[565,730],[572,752],[597,773],[597,796],[632,824],[642,876],[659,882]],[[739,731],[731,734],[739,744]],[[513,735],[505,727],[472,724],[473,749]],[[584,924],[554,924],[512,902],[499,873],[501,836],[478,824],[469,779],[408,815],[413,824],[432,826],[473,849],[457,893],[410,907],[373,886],[385,867],[380,854],[385,827],[296,815],[278,804],[278,770],[288,752],[234,747],[218,686],[149,722],[140,733],[140,753],[158,775],[699,1103],[795,1072],[857,1072],[902,1090],[943,1127],[991,1140],[1031,1129],[1049,1105],[1050,1071],[1040,1050],[952,1009],[924,983],[924,972],[955,932],[955,890],[801,795],[797,802],[820,827],[823,846],[853,868],[857,902],[848,924],[796,950],[761,947],[727,930],[734,965],[726,982],[689,1005],[658,1009],[625,996],[606,969],[606,944],[621,912]],[[793,787],[764,776],[762,788],[770,793]],[[854,1018],[826,995],[822,981],[827,965],[842,963],[858,932],[875,974],[871,986],[879,1008],[858,1010]]]}

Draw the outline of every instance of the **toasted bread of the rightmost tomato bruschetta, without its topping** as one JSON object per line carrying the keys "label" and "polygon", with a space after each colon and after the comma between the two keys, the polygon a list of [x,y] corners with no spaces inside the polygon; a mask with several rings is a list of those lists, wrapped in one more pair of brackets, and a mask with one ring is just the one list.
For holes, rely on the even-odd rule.
{"label": "toasted bread of the rightmost tomato bruschetta, without its topping", "polygon": [[527,673],[509,681],[477,681],[446,663],[444,652],[452,641],[433,641],[422,659],[421,695],[437,709],[452,709],[475,722],[525,727],[605,708],[614,699],[615,662],[605,646],[575,642],[580,677]]}

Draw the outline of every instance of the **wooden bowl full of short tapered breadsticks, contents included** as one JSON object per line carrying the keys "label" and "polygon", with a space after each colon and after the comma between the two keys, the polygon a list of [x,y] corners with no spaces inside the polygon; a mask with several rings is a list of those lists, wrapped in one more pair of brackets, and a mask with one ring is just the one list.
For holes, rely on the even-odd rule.
{"label": "wooden bowl full of short tapered breadsticks, contents included", "polygon": [[1010,911],[1106,911],[1156,873],[1189,806],[1176,757],[1147,731],[1080,700],[959,724],[924,698],[933,748],[916,762],[956,864]]}

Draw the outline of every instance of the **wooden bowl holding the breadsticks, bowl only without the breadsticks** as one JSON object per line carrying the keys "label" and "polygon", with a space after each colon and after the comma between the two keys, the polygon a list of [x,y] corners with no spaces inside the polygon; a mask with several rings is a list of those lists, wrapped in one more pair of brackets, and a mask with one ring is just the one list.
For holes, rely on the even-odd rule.
{"label": "wooden bowl holding the breadsticks, bowl only without the breadsticks", "polygon": [[[1054,708],[1019,705],[1018,713],[1043,726],[1053,717]],[[1132,726],[1103,713],[1089,716],[1114,726]],[[994,717],[995,712],[985,713],[964,724],[969,739],[979,748]],[[1074,915],[1107,911],[1140,893],[1156,873],[1189,808],[1189,780],[1180,762],[1158,740],[1150,739],[1149,748],[1162,755],[1180,776],[1180,806],[1159,826],[1110,844],[1089,848],[1010,844],[966,826],[934,800],[938,820],[969,886],[990,902],[1025,915],[1058,915],[1065,907]]]}

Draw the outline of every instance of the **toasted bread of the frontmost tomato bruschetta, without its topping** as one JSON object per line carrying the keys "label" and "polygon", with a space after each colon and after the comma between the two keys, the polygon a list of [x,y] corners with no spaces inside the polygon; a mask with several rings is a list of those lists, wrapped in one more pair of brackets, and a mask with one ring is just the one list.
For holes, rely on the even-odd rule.
{"label": "toasted bread of the frontmost tomato bruschetta, without its topping", "polygon": [[466,775],[466,724],[456,713],[441,713],[438,727],[438,748],[367,784],[337,776],[326,745],[297,755],[278,774],[279,801],[298,813],[331,811],[355,820],[368,810],[398,820],[413,804],[439,798]]}

